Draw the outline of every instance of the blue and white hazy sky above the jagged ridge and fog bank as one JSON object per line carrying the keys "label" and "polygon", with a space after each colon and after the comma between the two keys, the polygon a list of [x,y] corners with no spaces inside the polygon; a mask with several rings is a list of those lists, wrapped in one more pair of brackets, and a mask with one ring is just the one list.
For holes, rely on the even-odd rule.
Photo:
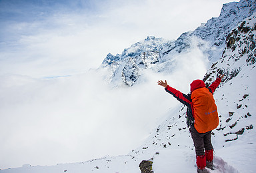
{"label": "blue and white hazy sky above the jagged ridge and fog bank", "polygon": [[177,39],[218,17],[228,2],[1,0],[0,74],[83,73],[148,35]]}

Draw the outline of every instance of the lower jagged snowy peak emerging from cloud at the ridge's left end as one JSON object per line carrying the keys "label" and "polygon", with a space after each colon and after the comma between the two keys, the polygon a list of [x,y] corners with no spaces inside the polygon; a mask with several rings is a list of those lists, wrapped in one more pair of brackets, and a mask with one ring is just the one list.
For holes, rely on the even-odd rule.
{"label": "lower jagged snowy peak emerging from cloud at the ridge's left end", "polygon": [[125,83],[132,86],[141,76],[143,69],[152,67],[159,62],[160,51],[168,43],[165,39],[153,36],[139,41],[125,49],[121,55],[107,55],[101,68],[108,69],[106,80],[114,85]]}

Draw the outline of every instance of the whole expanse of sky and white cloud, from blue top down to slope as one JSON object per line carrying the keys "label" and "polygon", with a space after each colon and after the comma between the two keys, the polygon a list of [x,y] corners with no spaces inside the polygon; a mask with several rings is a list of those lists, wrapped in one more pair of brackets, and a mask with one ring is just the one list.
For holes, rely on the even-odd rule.
{"label": "whole expanse of sky and white cloud, from blue top down to slope", "polygon": [[[177,39],[218,17],[229,2],[0,0],[0,169],[136,148],[170,108],[156,85],[166,76],[148,73],[147,83],[111,88],[95,69],[108,53],[148,35]],[[198,63],[201,77],[204,57]],[[174,74],[168,76],[173,83],[180,71]],[[193,77],[175,85],[187,90]]]}

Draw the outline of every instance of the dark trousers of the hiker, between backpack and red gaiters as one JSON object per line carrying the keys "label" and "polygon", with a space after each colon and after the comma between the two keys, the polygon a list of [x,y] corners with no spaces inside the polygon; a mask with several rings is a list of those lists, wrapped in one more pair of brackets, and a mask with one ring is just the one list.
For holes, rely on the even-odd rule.
{"label": "dark trousers of the hiker, between backpack and red gaiters", "polygon": [[189,131],[194,142],[195,154],[197,154],[197,156],[205,155],[205,150],[213,149],[213,145],[211,144],[211,131],[199,133],[194,126],[191,126]]}

